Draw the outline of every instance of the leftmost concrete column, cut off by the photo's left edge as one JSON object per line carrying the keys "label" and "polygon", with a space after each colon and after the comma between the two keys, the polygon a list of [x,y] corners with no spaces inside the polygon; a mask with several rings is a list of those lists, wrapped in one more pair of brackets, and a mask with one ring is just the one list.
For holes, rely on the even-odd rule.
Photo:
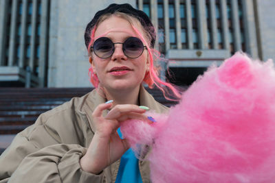
{"label": "leftmost concrete column, cut off by the photo's left edge", "polygon": [[3,66],[5,60],[5,40],[8,14],[8,0],[0,1],[0,66]]}

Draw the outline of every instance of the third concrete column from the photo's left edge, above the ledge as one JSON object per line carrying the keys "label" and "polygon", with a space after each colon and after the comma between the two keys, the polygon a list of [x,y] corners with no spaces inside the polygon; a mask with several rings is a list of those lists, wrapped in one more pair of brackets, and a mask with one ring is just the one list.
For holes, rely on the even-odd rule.
{"label": "third concrete column from the photo's left edge, above the ledge", "polygon": [[23,0],[22,14],[21,14],[21,36],[20,36],[20,53],[19,53],[19,67],[23,68],[25,62],[25,40],[26,27],[28,17],[28,0]]}

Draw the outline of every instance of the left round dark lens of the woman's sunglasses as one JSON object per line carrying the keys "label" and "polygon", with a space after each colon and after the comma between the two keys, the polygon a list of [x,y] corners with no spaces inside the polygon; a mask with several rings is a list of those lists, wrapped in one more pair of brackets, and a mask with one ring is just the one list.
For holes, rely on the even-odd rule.
{"label": "left round dark lens of the woman's sunglasses", "polygon": [[94,42],[94,53],[100,58],[109,58],[113,54],[113,42],[109,38],[98,38]]}

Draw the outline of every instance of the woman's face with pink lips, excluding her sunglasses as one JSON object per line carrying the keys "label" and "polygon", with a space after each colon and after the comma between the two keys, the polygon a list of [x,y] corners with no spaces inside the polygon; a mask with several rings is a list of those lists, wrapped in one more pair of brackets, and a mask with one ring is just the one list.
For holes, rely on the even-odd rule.
{"label": "woman's face with pink lips, excluding her sunglasses", "polygon": [[[140,33],[144,33],[140,27],[136,28]],[[100,37],[110,38],[112,42],[124,42],[129,37],[140,38],[129,21],[118,16],[110,16],[98,25],[95,38]],[[105,90],[131,90],[140,87],[148,71],[147,55],[148,52],[144,49],[140,57],[127,58],[122,51],[122,44],[115,44],[115,51],[111,57],[99,58],[92,51],[90,62]]]}

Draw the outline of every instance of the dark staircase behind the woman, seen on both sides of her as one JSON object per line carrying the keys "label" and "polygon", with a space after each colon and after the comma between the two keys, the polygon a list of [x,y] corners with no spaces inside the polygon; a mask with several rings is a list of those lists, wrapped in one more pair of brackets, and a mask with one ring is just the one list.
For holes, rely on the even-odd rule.
{"label": "dark staircase behind the woman, seen on both sides of her", "polygon": [[[39,114],[81,97],[93,88],[0,88],[0,154],[15,134],[32,125]],[[164,99],[158,89],[146,88],[165,106],[175,102]],[[10,139],[10,140],[6,140]]]}

